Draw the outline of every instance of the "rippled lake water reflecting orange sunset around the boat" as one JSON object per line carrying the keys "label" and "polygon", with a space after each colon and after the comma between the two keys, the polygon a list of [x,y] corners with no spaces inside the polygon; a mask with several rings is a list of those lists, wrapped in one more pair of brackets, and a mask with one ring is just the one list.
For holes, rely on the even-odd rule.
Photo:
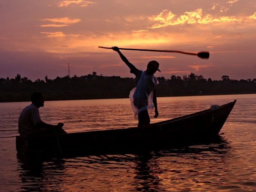
{"label": "rippled lake water reflecting orange sunset around the boat", "polygon": [[[145,154],[18,158],[18,118],[30,102],[0,103],[0,191],[256,191],[256,94],[158,98],[159,122],[237,100],[221,141]],[[46,101],[47,123],[67,132],[137,126],[129,99]]]}

